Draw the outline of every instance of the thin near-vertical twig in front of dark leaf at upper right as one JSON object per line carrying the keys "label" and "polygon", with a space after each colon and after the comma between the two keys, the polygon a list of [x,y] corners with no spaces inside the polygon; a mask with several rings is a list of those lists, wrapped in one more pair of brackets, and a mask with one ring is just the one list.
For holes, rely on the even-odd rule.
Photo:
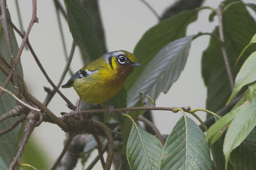
{"label": "thin near-vertical twig in front of dark leaf at upper right", "polygon": [[233,91],[234,89],[234,78],[232,75],[232,71],[230,68],[230,64],[229,64],[229,59],[228,59],[228,53],[226,51],[226,45],[225,45],[225,40],[224,40],[224,31],[223,31],[223,23],[222,23],[222,8],[223,8],[223,4],[220,4],[219,7],[216,9],[216,13],[218,16],[218,21],[219,21],[219,37],[221,40],[221,51],[222,51],[222,55],[223,55],[223,59],[224,59],[224,63],[225,63],[225,67],[228,73],[228,77],[229,77],[229,84],[231,87],[231,90]]}

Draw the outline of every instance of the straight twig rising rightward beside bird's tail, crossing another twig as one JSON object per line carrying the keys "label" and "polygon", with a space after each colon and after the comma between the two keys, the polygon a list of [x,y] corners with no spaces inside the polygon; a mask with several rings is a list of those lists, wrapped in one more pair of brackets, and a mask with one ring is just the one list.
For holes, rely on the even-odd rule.
{"label": "straight twig rising rightward beside bird's tail, crossing another twig", "polygon": [[[63,70],[63,73],[60,77],[60,80],[59,80],[59,83],[57,85],[57,88],[59,88],[64,80],[64,77],[66,76],[67,74],[67,71],[69,70],[69,67],[70,67],[70,64],[71,64],[71,61],[73,59],[73,54],[74,54],[74,50],[75,50],[75,42],[72,43],[72,48],[71,48],[71,51],[70,51],[70,54],[69,54],[69,57],[68,57],[68,60],[67,60],[67,63],[66,63],[66,66]],[[50,93],[47,93],[47,96],[46,96],[46,99],[44,101],[44,104],[47,106],[49,104],[49,102],[51,101],[51,99],[54,97],[56,93],[56,90],[53,89]]]}

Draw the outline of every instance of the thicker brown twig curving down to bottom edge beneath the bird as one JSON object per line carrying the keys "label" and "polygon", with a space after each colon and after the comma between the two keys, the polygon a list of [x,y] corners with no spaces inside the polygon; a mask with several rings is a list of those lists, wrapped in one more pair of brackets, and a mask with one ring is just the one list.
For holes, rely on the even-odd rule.
{"label": "thicker brown twig curving down to bottom edge beneath the bird", "polygon": [[98,127],[104,131],[104,133],[108,139],[108,156],[106,159],[106,164],[105,164],[104,170],[110,170],[112,160],[113,160],[113,154],[114,154],[114,141],[113,141],[112,134],[110,132],[109,127],[107,127],[101,121],[97,121],[97,120],[91,120],[91,121],[95,127]]}

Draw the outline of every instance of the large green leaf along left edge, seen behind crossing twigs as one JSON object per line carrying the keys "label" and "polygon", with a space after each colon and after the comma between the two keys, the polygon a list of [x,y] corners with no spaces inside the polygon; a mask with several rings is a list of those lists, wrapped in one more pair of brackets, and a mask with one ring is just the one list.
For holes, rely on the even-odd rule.
{"label": "large green leaf along left edge, seen behind crossing twigs", "polygon": [[[9,16],[9,11],[7,11],[7,15]],[[8,26],[8,30],[9,30],[13,55],[17,56],[18,43],[16,41],[16,37],[14,35],[13,29],[10,26]],[[3,58],[6,59],[7,62],[9,62],[9,54],[8,54],[7,49],[8,48],[5,43],[4,32],[1,31],[1,33],[0,33],[0,55],[3,56]],[[20,62],[17,65],[17,72],[21,77],[23,76]],[[3,86],[5,80],[6,80],[5,74],[2,71],[0,71],[0,85],[1,86]],[[11,83],[9,83],[9,85],[7,86],[7,89],[11,92],[14,92],[14,87]],[[2,97],[0,98],[0,115],[13,109],[14,106],[16,106],[16,105],[17,105],[17,102],[11,95],[9,95],[7,93],[3,93]],[[14,122],[16,122],[17,119],[18,119],[18,117],[6,119],[4,122],[0,123],[0,130],[3,130],[5,128],[9,127]],[[1,165],[1,166],[9,167],[9,164],[12,162],[13,157],[17,153],[17,150],[18,150],[17,135],[18,135],[20,127],[21,127],[21,125],[18,125],[12,131],[0,136],[0,157],[1,157],[2,161],[5,163],[5,165]],[[18,167],[16,168],[16,170],[18,170]]]}

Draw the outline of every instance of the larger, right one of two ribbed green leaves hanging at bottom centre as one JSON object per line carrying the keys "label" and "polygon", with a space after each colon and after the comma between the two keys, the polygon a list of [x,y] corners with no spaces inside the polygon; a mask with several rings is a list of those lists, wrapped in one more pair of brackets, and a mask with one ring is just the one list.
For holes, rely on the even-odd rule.
{"label": "larger, right one of two ribbed green leaves hanging at bottom centre", "polygon": [[[192,119],[179,119],[167,137],[160,170],[211,170],[210,149]],[[202,148],[201,148],[202,147]]]}

